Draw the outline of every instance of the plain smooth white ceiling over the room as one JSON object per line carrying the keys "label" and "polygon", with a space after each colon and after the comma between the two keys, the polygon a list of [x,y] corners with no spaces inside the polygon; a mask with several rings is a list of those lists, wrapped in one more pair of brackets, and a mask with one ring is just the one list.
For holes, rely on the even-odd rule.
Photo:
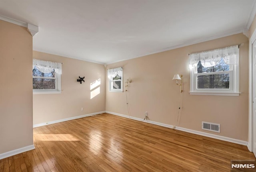
{"label": "plain smooth white ceiling over the room", "polygon": [[0,15],[39,26],[36,51],[109,64],[242,33],[254,5],[255,0],[0,0]]}

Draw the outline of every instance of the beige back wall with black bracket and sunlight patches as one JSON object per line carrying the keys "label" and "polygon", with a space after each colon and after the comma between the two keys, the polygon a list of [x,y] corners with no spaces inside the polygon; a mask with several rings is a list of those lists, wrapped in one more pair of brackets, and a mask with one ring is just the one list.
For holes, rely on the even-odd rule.
{"label": "beige back wall with black bracket and sunlight patches", "polygon": [[[33,95],[34,125],[105,111],[104,65],[33,51],[33,58],[62,62],[62,93]],[[85,82],[78,83],[78,76]],[[90,90],[90,83],[101,80],[101,84]],[[95,89],[100,93],[91,99]],[[96,91],[98,91],[96,90]],[[81,108],[84,111],[81,111]]]}

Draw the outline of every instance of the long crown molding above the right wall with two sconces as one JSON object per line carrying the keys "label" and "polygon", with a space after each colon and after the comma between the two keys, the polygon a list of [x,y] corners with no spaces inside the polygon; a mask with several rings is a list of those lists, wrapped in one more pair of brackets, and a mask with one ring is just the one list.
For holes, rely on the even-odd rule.
{"label": "long crown molding above the right wall with two sconces", "polygon": [[154,51],[152,53],[147,53],[147,54],[144,54],[144,55],[138,55],[136,57],[131,57],[131,58],[123,59],[123,60],[112,61],[112,62],[106,63],[106,65],[110,65],[110,64],[113,64],[113,63],[118,63],[118,62],[121,62],[121,61],[130,60],[130,59],[135,59],[135,58],[138,58],[138,57],[144,57],[146,55],[151,55],[151,54],[155,54],[155,53],[161,53],[161,52],[169,51],[169,50],[176,49],[176,48],[186,47],[188,45],[194,45],[196,43],[216,40],[218,38],[223,38],[223,37],[226,37],[226,36],[231,36],[231,35],[235,35],[235,34],[241,34],[243,32],[244,32],[243,29],[238,29],[238,30],[233,30],[231,32],[226,32],[224,34],[219,34],[219,35],[215,35],[215,36],[210,36],[210,37],[202,38],[200,40],[191,40],[191,41],[188,41],[187,43],[183,43],[183,44],[180,44],[180,45],[175,45],[175,46],[172,46],[172,47],[167,47],[167,48],[161,49],[159,51]]}

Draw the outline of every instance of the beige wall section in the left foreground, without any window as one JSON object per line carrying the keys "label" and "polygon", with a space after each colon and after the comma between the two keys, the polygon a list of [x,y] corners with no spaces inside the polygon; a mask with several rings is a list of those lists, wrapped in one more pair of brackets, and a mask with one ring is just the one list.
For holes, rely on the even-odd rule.
{"label": "beige wall section in the left foreground, without any window", "polygon": [[0,154],[33,145],[32,36],[0,20]]}

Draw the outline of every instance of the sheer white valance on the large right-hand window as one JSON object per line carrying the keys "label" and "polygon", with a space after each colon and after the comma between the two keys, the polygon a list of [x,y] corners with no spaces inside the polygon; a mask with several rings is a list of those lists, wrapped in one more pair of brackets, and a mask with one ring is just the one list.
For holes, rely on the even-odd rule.
{"label": "sheer white valance on the large right-hand window", "polygon": [[223,58],[224,62],[228,65],[238,64],[239,48],[238,45],[213,49],[210,51],[202,51],[200,53],[193,53],[189,55],[189,67],[197,66],[198,62],[201,61],[202,66],[212,67],[220,62]]}

